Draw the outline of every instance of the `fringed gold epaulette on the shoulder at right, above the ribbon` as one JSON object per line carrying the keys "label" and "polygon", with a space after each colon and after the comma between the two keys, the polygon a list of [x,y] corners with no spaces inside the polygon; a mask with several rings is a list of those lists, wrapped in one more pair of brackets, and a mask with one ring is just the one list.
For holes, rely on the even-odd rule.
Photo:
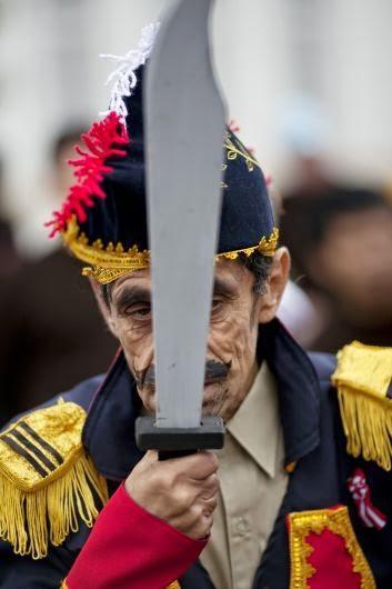
{"label": "fringed gold epaulette on the shoulder at right, above the ribbon", "polygon": [[338,389],[348,452],[391,470],[392,348],[354,341],[338,353],[332,383]]}

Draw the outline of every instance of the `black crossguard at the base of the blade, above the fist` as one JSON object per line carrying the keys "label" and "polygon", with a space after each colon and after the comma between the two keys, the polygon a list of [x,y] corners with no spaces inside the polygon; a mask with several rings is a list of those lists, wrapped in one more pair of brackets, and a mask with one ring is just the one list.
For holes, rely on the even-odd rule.
{"label": "black crossguard at the base of the blade, above the fist", "polygon": [[198,450],[219,450],[224,443],[224,425],[220,417],[203,416],[198,428],[158,428],[154,417],[139,417],[135,440],[143,451],[183,452],[185,456]]}

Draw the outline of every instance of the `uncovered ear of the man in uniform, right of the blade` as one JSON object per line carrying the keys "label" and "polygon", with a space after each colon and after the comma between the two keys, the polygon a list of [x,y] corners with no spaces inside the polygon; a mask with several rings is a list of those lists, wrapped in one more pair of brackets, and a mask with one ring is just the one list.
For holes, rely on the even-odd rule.
{"label": "uncovered ear of the man in uniform, right of the blade", "polygon": [[268,323],[278,311],[290,276],[290,253],[287,248],[279,248],[273,257],[265,293],[260,297],[259,323]]}

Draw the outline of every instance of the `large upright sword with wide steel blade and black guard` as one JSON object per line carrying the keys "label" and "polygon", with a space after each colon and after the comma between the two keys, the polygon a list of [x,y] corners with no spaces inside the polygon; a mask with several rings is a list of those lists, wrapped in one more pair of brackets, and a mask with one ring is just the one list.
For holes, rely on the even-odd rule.
{"label": "large upright sword with wide steel blade and black guard", "polygon": [[201,415],[225,121],[210,57],[212,4],[180,0],[147,68],[157,416],[137,421],[142,450],[223,446],[222,420]]}

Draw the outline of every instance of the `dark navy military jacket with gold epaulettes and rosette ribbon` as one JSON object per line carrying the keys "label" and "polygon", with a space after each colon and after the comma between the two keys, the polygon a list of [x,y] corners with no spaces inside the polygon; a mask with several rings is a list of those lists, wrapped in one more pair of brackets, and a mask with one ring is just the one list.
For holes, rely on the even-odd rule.
{"label": "dark navy military jacket with gold epaulettes and rosette ribbon", "polygon": [[[392,350],[354,343],[340,352],[336,369],[333,357],[308,356],[274,320],[260,332],[258,357],[277,379],[290,480],[250,589],[390,589]],[[6,428],[0,437],[1,589],[77,587],[67,578],[72,580],[78,555],[93,552],[98,512],[109,497],[108,505],[114,500],[142,456],[134,441],[140,408],[120,351],[105,376]],[[127,530],[134,546],[147,541],[137,529]],[[108,542],[110,533],[107,527]],[[190,543],[170,557],[157,545],[151,567],[170,569],[171,558],[178,559],[170,582],[178,578],[181,589],[213,589],[197,560],[201,548]],[[108,555],[96,557],[110,571]],[[129,555],[128,561],[132,567]],[[140,587],[168,586],[159,585],[159,577],[143,585],[143,570],[140,576]],[[91,587],[128,587],[100,582],[93,579]]]}

